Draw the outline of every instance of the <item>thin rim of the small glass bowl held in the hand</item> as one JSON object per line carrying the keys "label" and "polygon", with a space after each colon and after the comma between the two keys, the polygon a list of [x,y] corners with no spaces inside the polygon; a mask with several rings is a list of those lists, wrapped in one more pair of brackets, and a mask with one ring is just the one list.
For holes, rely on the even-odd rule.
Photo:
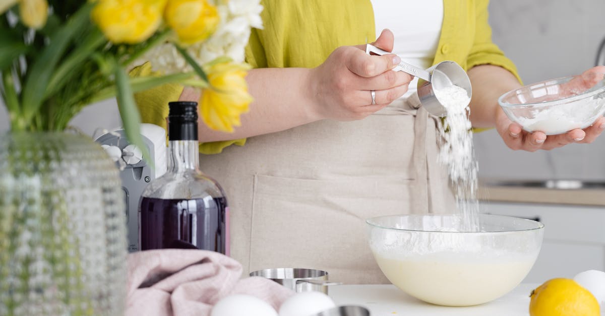
{"label": "thin rim of the small glass bowl held in the hand", "polygon": [[[563,97],[561,99],[557,99],[557,100],[550,100],[550,101],[546,101],[546,102],[538,102],[538,103],[509,103],[509,102],[505,102],[504,99],[505,97],[510,96],[511,94],[515,93],[525,89],[525,88],[529,88],[529,90],[533,90],[532,87],[536,86],[536,85],[542,85],[545,86],[546,84],[552,83],[551,85],[554,84],[563,84],[564,82],[568,82],[571,81],[571,79],[573,79],[576,76],[565,76],[565,77],[558,77],[558,78],[553,78],[553,79],[548,79],[548,80],[544,80],[544,81],[538,81],[538,82],[534,82],[533,84],[529,84],[529,85],[524,85],[523,87],[520,88],[516,88],[513,90],[510,90],[506,93],[503,93],[502,96],[498,97],[498,104],[500,105],[500,107],[503,108],[541,108],[541,107],[548,107],[551,105],[556,105],[559,104],[560,102],[574,102],[577,100],[581,100],[581,99],[585,99],[587,97],[592,97],[595,94],[601,93],[603,91],[605,91],[605,78],[603,80],[601,80],[600,82],[598,82],[598,84],[603,84],[603,86],[596,88],[595,90],[590,91],[592,88],[586,90],[584,93],[581,94],[574,94],[572,96],[568,96],[568,97]],[[598,85],[595,84],[595,85]]]}

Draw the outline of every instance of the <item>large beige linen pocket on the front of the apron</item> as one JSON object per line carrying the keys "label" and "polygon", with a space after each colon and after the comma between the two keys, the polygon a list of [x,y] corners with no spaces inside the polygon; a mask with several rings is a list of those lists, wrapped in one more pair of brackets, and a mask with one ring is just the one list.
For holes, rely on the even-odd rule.
{"label": "large beige linen pocket on the front of the apron", "polygon": [[395,177],[255,175],[250,271],[312,268],[338,281],[384,282],[367,245],[365,219],[409,212],[413,183]]}

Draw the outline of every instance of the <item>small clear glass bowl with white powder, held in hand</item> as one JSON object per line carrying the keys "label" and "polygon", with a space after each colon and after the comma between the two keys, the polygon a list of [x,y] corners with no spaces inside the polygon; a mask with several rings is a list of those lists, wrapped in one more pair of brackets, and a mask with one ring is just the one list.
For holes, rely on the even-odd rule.
{"label": "small clear glass bowl with white powder, held in hand", "polygon": [[526,85],[499,97],[498,103],[523,130],[563,134],[592,125],[605,113],[605,80],[582,87],[581,76]]}

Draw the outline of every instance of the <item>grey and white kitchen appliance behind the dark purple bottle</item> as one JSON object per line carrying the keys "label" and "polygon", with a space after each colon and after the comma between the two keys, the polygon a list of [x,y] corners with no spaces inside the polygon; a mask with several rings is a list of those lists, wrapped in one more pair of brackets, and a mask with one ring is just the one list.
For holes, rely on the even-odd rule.
{"label": "grey and white kitchen appliance behind the dark purple bottle", "polygon": [[128,251],[139,250],[139,202],[143,189],[151,180],[166,173],[166,131],[157,125],[141,124],[143,143],[149,151],[148,163],[142,151],[126,139],[124,130],[108,131],[95,140],[120,168],[126,199]]}

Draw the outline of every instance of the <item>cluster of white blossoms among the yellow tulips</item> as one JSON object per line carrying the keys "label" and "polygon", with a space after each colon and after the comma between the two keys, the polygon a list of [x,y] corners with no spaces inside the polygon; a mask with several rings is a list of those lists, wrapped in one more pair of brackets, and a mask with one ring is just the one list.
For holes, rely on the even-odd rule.
{"label": "cluster of white blossoms among the yellow tulips", "polygon": [[[260,0],[229,0],[217,5],[221,21],[217,30],[204,42],[186,47],[198,64],[227,56],[234,62],[244,61],[244,49],[250,38],[250,28],[263,28]],[[143,55],[142,62],[150,61],[154,71],[165,74],[192,71],[191,66],[178,53],[174,45],[165,43]],[[137,64],[142,64],[137,62]]]}

